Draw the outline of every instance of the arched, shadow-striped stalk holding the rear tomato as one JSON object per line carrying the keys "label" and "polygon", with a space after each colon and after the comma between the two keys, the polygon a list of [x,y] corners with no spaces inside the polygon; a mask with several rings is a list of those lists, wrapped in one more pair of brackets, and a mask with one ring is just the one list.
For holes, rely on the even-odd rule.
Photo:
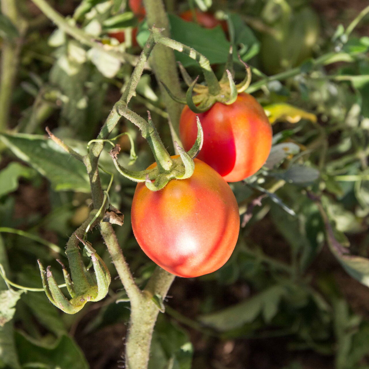
{"label": "arched, shadow-striped stalk holding the rear tomato", "polygon": [[195,49],[182,44],[179,41],[175,41],[168,37],[165,37],[164,35],[162,35],[161,30],[159,30],[156,27],[153,27],[152,31],[154,34],[155,42],[157,42],[158,44],[162,44],[164,46],[167,46],[170,49],[182,52],[183,54],[186,54],[190,58],[199,62],[201,69],[203,69],[203,73],[204,73],[204,77],[206,80],[206,84],[209,89],[209,93],[211,95],[216,96],[220,92],[220,85],[219,85],[217,76],[215,76],[213,69],[211,69],[209,60],[204,55],[200,54]]}

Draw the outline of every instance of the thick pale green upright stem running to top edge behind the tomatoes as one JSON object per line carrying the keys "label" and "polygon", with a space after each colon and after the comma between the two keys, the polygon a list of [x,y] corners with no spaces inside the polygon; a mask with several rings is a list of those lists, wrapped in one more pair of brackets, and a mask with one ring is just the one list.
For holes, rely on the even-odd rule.
{"label": "thick pale green upright stem running to top edge behind the tomatoes", "polygon": [[[165,8],[162,0],[144,0],[146,8],[146,19],[149,28],[154,25],[158,28],[164,28],[163,35],[170,37],[169,20],[165,13]],[[154,70],[156,79],[170,86],[170,89],[176,96],[182,96],[182,90],[179,82],[176,59],[173,50],[166,48],[163,45],[156,45],[150,60],[152,69]],[[164,68],[165,66],[165,68]],[[179,132],[179,118],[182,112],[182,104],[173,101],[164,87],[160,85],[161,94],[163,97],[166,110],[168,111],[170,121],[175,129]]]}

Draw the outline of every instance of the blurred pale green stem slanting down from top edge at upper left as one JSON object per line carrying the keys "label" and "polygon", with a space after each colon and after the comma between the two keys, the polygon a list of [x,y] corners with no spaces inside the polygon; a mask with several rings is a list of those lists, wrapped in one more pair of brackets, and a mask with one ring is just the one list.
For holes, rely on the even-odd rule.
{"label": "blurred pale green stem slanting down from top edge at upper left", "polygon": [[47,3],[46,0],[32,1],[39,7],[42,13],[44,13],[46,17],[52,20],[61,30],[63,30],[82,44],[90,46],[91,48],[98,49],[99,51],[104,52],[105,54],[108,54],[110,56],[114,56],[114,58],[117,58],[123,63],[129,62],[132,65],[135,65],[137,63],[137,58],[135,56],[127,54],[125,52],[108,50],[104,47],[104,45],[95,42],[90,35],[86,34],[80,28],[77,28],[76,26],[69,23],[61,14],[54,10]]}

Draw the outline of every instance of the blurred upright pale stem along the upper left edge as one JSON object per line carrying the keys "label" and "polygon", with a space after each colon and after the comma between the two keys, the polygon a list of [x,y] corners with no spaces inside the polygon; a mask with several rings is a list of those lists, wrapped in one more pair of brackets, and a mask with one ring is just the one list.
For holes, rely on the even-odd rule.
{"label": "blurred upright pale stem along the upper left edge", "polygon": [[4,132],[8,128],[14,81],[17,75],[19,56],[27,24],[19,16],[15,0],[1,0],[1,13],[12,21],[19,32],[19,37],[14,41],[5,38],[2,40],[0,65],[0,132]]}

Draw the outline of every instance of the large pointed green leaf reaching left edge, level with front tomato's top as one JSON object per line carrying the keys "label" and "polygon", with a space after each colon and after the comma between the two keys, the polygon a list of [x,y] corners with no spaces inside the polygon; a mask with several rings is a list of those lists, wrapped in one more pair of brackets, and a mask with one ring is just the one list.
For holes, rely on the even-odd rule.
{"label": "large pointed green leaf reaching left edge, level with front tomato's top", "polygon": [[63,151],[51,139],[28,134],[0,134],[0,139],[18,158],[48,178],[54,190],[90,192],[83,163]]}

